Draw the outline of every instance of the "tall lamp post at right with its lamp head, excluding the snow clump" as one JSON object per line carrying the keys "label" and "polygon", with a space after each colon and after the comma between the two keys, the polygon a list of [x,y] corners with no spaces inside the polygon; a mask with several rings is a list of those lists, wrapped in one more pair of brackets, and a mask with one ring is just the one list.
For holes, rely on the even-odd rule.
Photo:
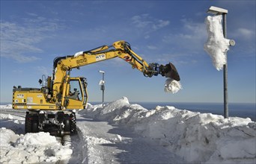
{"label": "tall lamp post at right with its lamp head, excluding the snow clump", "polygon": [[[223,35],[225,38],[227,38],[227,22],[226,22],[226,16],[228,13],[228,10],[211,6],[207,13],[212,13],[214,15],[222,15],[222,28],[223,28]],[[234,40],[232,40],[234,42]],[[231,43],[232,45],[233,43]],[[227,51],[225,52],[227,53]],[[227,61],[223,65],[223,86],[224,86],[224,117],[225,119],[228,119],[228,55],[226,54]]]}

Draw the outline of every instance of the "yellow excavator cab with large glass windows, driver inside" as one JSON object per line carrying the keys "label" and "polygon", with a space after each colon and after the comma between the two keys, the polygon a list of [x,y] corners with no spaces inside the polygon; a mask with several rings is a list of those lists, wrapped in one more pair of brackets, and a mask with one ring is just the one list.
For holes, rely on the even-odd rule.
{"label": "yellow excavator cab with large glass windows, driver inside", "polygon": [[67,109],[84,109],[88,100],[86,78],[70,78],[67,83],[65,106]]}

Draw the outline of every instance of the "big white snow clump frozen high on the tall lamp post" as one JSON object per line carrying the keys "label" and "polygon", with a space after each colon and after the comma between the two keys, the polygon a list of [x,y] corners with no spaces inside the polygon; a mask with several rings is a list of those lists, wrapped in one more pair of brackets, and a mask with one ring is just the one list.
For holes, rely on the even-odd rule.
{"label": "big white snow clump frozen high on the tall lamp post", "polygon": [[207,25],[208,40],[204,44],[204,50],[210,54],[213,66],[219,71],[227,63],[226,51],[229,49],[230,40],[225,39],[223,35],[222,15],[207,16],[205,24]]}

